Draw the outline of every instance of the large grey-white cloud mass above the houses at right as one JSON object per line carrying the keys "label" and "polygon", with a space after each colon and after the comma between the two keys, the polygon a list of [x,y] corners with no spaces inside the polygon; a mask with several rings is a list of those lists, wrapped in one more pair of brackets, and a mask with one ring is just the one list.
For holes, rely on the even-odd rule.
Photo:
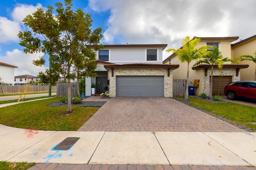
{"label": "large grey-white cloud mass above the houses at right", "polygon": [[245,39],[256,34],[255,0],[89,0],[89,6],[111,12],[103,39],[107,44],[118,40],[179,48],[185,36]]}

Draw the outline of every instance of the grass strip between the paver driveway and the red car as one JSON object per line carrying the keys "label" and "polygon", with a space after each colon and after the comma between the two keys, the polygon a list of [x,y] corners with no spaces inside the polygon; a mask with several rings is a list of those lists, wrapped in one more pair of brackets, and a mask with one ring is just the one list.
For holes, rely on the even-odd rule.
{"label": "grass strip between the paver driveway and the red car", "polygon": [[232,102],[212,103],[190,97],[190,104],[256,131],[256,107]]}

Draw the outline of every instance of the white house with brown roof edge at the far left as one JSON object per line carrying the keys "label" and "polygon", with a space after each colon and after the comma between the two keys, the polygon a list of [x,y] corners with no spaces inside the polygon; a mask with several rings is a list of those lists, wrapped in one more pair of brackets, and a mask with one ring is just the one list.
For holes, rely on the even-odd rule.
{"label": "white house with brown roof edge at the far left", "polygon": [[1,82],[6,84],[14,84],[14,68],[18,67],[0,62]]}

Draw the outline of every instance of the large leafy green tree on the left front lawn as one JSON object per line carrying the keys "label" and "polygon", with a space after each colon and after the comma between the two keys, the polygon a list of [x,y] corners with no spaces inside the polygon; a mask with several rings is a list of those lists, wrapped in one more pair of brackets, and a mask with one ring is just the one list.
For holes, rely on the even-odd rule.
{"label": "large leafy green tree on the left front lawn", "polygon": [[[83,10],[72,10],[72,0],[56,3],[57,14],[53,7],[48,10],[39,8],[32,15],[26,16],[24,25],[31,31],[19,32],[20,45],[25,47],[25,53],[48,53],[51,61],[52,72],[62,75],[68,80],[68,111],[71,112],[70,79],[76,77],[76,71],[81,75],[91,75],[96,68],[95,50],[102,49],[100,40],[103,37],[102,29],[92,27],[92,19]],[[37,66],[45,64],[44,57],[33,62]],[[51,73],[50,73],[51,74]],[[49,75],[50,75],[49,74]]]}

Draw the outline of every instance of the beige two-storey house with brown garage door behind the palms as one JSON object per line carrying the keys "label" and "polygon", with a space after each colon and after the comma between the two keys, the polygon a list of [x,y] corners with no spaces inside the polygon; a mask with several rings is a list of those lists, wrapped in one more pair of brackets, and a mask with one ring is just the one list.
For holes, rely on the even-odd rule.
{"label": "beige two-storey house with brown garage door behind the palms", "polygon": [[[196,48],[202,47],[204,45],[218,47],[223,57],[229,57],[230,59],[233,59],[231,42],[236,41],[239,37],[200,38],[201,41],[198,43]],[[196,86],[194,91],[195,95],[200,95],[203,90],[208,95],[210,91],[211,67],[206,64],[193,66],[195,63],[196,61],[192,61],[190,63],[188,86]],[[180,67],[176,70],[173,70],[173,79],[186,79],[187,63],[181,63],[177,55],[170,55],[167,59],[163,61],[163,64],[179,64]],[[226,86],[226,84],[233,81],[240,81],[240,70],[248,68],[248,66],[248,64],[232,64],[231,62],[226,62],[223,65],[222,69],[218,69],[217,66],[214,66],[212,95],[214,96],[218,94],[220,82],[220,95],[224,95],[224,87]],[[221,74],[222,79],[220,81]]]}

